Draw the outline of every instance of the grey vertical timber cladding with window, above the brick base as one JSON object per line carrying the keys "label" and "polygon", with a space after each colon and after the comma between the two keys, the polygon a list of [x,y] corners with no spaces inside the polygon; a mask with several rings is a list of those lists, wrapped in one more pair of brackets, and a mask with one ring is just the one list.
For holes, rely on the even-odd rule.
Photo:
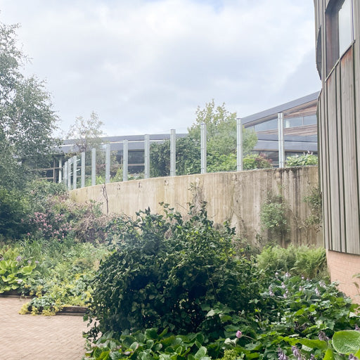
{"label": "grey vertical timber cladding with window, above the brick base", "polygon": [[314,6],[325,244],[360,255],[360,1]]}

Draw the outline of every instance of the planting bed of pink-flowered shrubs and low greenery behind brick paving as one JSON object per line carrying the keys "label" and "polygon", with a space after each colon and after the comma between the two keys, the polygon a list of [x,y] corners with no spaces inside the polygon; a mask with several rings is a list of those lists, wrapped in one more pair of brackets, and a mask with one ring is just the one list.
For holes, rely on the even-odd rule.
{"label": "planting bed of pink-flowered shrubs and low greenery behind brick paving", "polygon": [[110,252],[105,241],[113,219],[94,203],[73,203],[63,184],[35,181],[22,201],[27,204],[17,220],[22,234],[0,239],[0,293],[34,297],[23,314],[84,306],[91,297],[89,281]]}

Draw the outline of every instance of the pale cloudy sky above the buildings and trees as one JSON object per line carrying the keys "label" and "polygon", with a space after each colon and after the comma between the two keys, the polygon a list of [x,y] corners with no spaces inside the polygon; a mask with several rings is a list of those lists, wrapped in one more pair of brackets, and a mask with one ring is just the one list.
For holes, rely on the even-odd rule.
{"label": "pale cloudy sky above the buildings and trees", "polygon": [[312,0],[0,0],[0,22],[60,134],[92,111],[108,136],[181,133],[212,99],[245,117],[321,89]]}

